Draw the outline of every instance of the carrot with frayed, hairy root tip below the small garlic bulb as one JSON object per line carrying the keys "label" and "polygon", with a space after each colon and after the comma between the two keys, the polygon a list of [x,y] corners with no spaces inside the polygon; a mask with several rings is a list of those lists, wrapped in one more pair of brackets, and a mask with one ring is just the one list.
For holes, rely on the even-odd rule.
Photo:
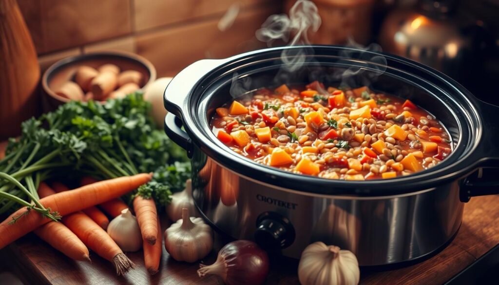
{"label": "carrot with frayed, hairy root tip below the small garlic bulb", "polygon": [[[43,190],[39,191],[41,197],[55,195],[52,189]],[[62,217],[62,223],[97,255],[112,262],[118,275],[123,275],[130,269],[135,268],[133,262],[123,254],[113,239],[83,212],[76,212]]]}

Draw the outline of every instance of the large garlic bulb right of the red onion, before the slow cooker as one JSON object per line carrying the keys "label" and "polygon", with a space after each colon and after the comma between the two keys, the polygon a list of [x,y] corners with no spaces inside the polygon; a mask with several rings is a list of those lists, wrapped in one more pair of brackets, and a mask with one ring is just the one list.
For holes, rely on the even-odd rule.
{"label": "large garlic bulb right of the red onion, before the slow cooker", "polygon": [[298,279],[301,285],[357,285],[359,263],[350,251],[316,242],[301,254]]}

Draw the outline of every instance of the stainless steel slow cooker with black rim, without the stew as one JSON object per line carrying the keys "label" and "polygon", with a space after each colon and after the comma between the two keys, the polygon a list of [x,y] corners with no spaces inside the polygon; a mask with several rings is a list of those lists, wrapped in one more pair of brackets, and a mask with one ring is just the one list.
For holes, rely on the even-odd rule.
{"label": "stainless steel slow cooker with black rim, without the stew", "polygon": [[[283,62],[283,50],[300,58]],[[290,61],[302,66],[289,68]],[[369,85],[410,98],[448,128],[453,153],[433,169],[406,177],[327,180],[254,163],[227,148],[209,128],[215,108],[229,101],[231,93],[313,80]],[[201,60],[172,80],[165,107],[171,112],[165,131],[192,157],[193,197],[204,218],[235,239],[254,239],[293,258],[314,241],[352,251],[361,266],[431,255],[457,233],[464,202],[499,188],[495,177],[468,177],[499,165],[493,143],[498,127],[490,121],[499,108],[479,101],[445,75],[396,56],[313,46]]]}

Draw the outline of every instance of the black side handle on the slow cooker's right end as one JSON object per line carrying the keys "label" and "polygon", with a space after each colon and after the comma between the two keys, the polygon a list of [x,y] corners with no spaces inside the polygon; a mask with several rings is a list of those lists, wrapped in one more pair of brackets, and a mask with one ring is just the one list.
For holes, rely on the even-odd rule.
{"label": "black side handle on the slow cooker's right end", "polygon": [[499,194],[499,107],[480,101],[480,113],[484,121],[481,157],[478,169],[466,177],[460,186],[462,202],[471,197]]}

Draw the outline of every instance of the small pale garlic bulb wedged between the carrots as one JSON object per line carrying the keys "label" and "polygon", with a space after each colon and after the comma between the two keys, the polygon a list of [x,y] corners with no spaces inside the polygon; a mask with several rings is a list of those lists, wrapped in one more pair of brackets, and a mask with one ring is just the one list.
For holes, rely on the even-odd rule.
{"label": "small pale garlic bulb wedged between the carrots", "polygon": [[109,223],[107,233],[124,252],[136,252],[142,247],[139,223],[128,208]]}

